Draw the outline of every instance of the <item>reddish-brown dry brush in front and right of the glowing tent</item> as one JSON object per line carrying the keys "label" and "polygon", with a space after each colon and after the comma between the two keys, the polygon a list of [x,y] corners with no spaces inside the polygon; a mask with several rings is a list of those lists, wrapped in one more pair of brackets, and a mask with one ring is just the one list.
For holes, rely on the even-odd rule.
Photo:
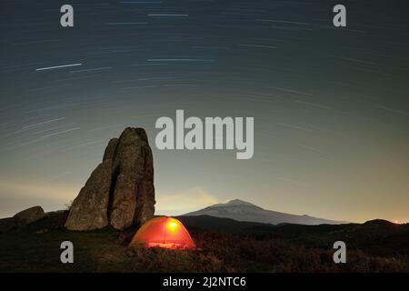
{"label": "reddish-brown dry brush in front and right of the glowing tent", "polygon": [[347,264],[336,265],[333,251],[306,248],[283,240],[200,233],[195,252],[161,248],[129,250],[137,269],[148,272],[407,272],[407,258],[348,252]]}

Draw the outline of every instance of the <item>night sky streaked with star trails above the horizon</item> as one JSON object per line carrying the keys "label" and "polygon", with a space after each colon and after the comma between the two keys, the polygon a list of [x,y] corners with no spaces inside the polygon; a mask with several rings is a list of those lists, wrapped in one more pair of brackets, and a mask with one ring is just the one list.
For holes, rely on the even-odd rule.
{"label": "night sky streaked with star trails above the horizon", "polygon": [[[157,214],[240,198],[409,221],[407,4],[364,2],[340,2],[347,27],[335,28],[334,1],[2,0],[0,217],[64,208],[108,140],[138,126]],[[58,65],[73,66],[41,69]],[[158,150],[155,121],[176,109],[254,116],[253,159]]]}

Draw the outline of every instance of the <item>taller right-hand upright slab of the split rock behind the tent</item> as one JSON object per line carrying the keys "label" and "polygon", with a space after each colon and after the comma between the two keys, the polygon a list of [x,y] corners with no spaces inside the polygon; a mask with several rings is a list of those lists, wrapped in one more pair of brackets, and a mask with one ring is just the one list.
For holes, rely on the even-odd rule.
{"label": "taller right-hand upright slab of the split rock behind the tent", "polygon": [[111,225],[123,229],[152,218],[155,211],[155,202],[152,203],[155,201],[154,163],[144,129],[125,129],[116,145],[113,167],[115,191]]}

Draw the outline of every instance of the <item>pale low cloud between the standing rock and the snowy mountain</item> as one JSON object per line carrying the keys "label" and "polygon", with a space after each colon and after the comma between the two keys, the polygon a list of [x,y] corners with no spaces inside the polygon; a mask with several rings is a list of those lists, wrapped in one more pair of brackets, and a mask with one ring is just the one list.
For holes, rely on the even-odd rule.
{"label": "pale low cloud between the standing rock and the snowy mountain", "polygon": [[219,200],[201,187],[186,189],[180,193],[156,191],[155,214],[175,216],[219,203]]}

